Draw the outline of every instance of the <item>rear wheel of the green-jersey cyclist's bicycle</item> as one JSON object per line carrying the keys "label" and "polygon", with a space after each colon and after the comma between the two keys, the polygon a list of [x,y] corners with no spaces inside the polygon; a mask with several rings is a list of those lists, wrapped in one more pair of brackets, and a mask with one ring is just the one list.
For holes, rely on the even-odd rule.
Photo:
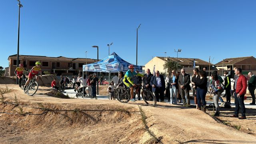
{"label": "rear wheel of the green-jersey cyclist's bicycle", "polygon": [[119,102],[127,103],[131,99],[131,96],[124,87],[118,87],[115,90],[115,97]]}

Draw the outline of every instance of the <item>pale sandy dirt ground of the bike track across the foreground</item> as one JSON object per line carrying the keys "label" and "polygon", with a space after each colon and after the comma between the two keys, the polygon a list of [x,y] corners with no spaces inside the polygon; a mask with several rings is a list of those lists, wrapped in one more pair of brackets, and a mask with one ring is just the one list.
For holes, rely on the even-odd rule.
{"label": "pale sandy dirt ground of the bike track across the foreground", "polygon": [[[230,118],[234,108],[221,108],[221,116],[211,116],[212,109],[204,113],[194,107],[157,103],[146,106],[143,101],[122,104],[117,100],[60,99],[46,96],[51,89],[39,87],[34,96],[28,96],[13,84],[0,84],[0,89],[12,88],[4,94],[4,102],[18,102],[30,107],[52,110],[85,110],[45,112],[42,109],[15,106],[0,102],[0,144],[70,144],[70,143],[148,143],[138,106],[147,116],[147,126],[164,144],[179,143],[256,143],[256,110],[246,109],[247,119]],[[105,88],[101,88],[105,91]],[[38,104],[40,103],[40,104]],[[41,114],[41,115],[21,115]],[[15,112],[15,111],[16,112]],[[224,123],[223,123],[224,121]],[[234,127],[240,126],[240,130]],[[152,143],[152,142],[149,142]]]}

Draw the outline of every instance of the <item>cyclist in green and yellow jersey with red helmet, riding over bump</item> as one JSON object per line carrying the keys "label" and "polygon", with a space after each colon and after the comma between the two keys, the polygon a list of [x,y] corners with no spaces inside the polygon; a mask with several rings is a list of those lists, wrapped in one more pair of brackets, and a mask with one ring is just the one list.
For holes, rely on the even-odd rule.
{"label": "cyclist in green and yellow jersey with red helmet, riding over bump", "polygon": [[131,101],[135,102],[136,100],[135,100],[135,98],[133,98],[133,90],[136,87],[136,84],[133,83],[132,77],[135,76],[135,75],[138,75],[138,76],[141,76],[143,78],[144,76],[140,73],[134,72],[134,65],[133,64],[130,64],[128,66],[128,68],[129,68],[129,70],[125,73],[123,82],[126,86],[128,86],[128,88],[130,88]]}

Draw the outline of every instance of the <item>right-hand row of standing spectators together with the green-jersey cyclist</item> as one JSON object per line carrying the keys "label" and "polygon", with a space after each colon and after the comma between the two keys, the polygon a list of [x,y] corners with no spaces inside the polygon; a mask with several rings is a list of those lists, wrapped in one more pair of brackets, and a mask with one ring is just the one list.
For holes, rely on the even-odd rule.
{"label": "right-hand row of standing spectators together with the green-jersey cyclist", "polygon": [[[181,74],[180,74],[181,72]],[[132,81],[132,78],[127,80],[126,75],[122,72],[119,72],[119,80],[118,86],[124,86],[124,84],[131,89],[131,99],[132,101],[136,101],[133,97],[133,88],[136,84],[141,84],[145,89],[154,92],[156,96],[157,102],[164,102],[164,91],[165,96],[168,97],[168,102],[170,104],[178,104],[182,103],[183,106],[190,105],[190,84],[192,85],[194,102],[196,104],[196,109],[202,110],[206,112],[206,94],[208,92],[208,78],[205,70],[198,70],[195,68],[193,70],[192,80],[190,80],[190,75],[186,73],[184,68],[181,69],[180,72],[176,72],[172,70],[167,75],[166,79],[164,80],[164,76],[160,75],[159,71],[156,70],[155,75],[152,75],[150,69],[146,70],[146,74],[141,76],[141,74],[133,71],[131,67],[128,72],[126,72],[128,77],[135,78]],[[255,104],[255,94],[254,90],[256,87],[256,76],[252,74],[252,72],[248,73],[249,79],[246,79],[245,76],[242,74],[241,68],[235,69],[235,75],[237,78],[234,82],[234,99],[235,99],[235,112],[232,117],[238,117],[239,109],[242,110],[242,116],[240,119],[246,119],[245,115],[245,106],[244,106],[244,95],[246,94],[247,88],[247,81],[248,81],[248,90],[252,95],[252,103]],[[221,102],[220,105],[230,105],[231,101],[231,80],[230,75],[227,71],[224,72],[224,79],[219,76],[217,71],[213,71],[211,73],[211,80],[209,82],[210,85],[210,95],[213,99],[213,105],[216,108],[216,112],[214,116],[220,116],[220,106],[219,100]],[[142,78],[142,79],[141,79]],[[139,80],[141,79],[141,81]],[[127,84],[128,83],[128,84]],[[223,84],[224,83],[224,84]],[[226,97],[226,102],[221,97],[221,94],[224,92],[224,97]],[[140,91],[138,91],[140,93]],[[140,95],[138,94],[138,100],[140,100]]]}

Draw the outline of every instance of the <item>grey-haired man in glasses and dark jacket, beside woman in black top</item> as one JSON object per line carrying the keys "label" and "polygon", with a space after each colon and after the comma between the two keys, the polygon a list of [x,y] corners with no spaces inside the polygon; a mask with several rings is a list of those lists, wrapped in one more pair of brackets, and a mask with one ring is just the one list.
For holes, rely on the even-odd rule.
{"label": "grey-haired man in glasses and dark jacket, beside woman in black top", "polygon": [[186,104],[190,104],[190,97],[189,97],[189,91],[190,88],[190,75],[186,74],[186,70],[182,68],[181,70],[181,76],[179,77],[178,84],[180,86],[180,93],[182,97],[183,106]]}

